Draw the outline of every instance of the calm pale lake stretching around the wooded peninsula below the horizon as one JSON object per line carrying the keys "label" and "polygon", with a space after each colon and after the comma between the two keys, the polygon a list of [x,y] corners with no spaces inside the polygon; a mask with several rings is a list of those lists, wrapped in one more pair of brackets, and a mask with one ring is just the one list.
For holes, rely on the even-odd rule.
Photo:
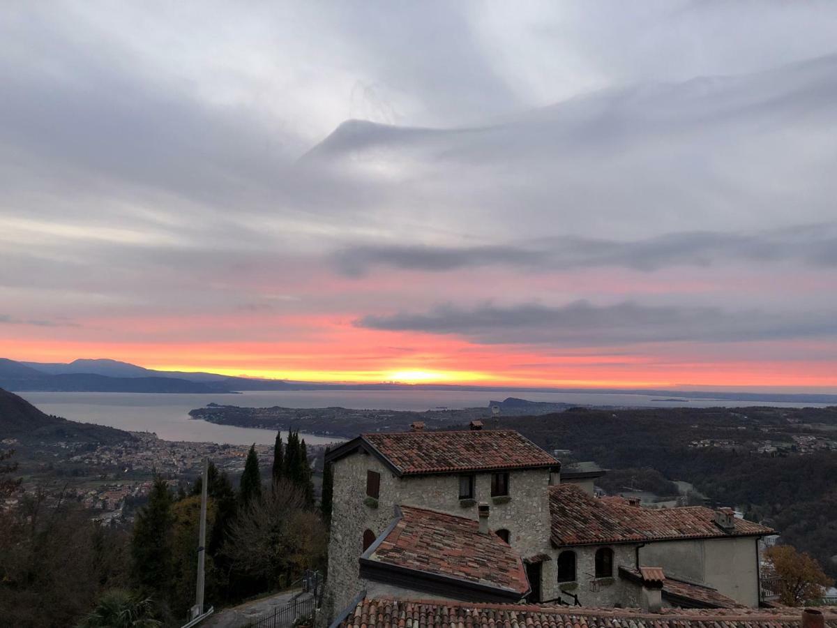
{"label": "calm pale lake stretching around the wooded peninsula below the horizon", "polygon": [[[193,440],[235,445],[270,444],[275,432],[191,420],[188,411],[214,402],[250,408],[281,405],[288,408],[342,406],[354,409],[427,410],[486,407],[491,399],[519,397],[531,401],[553,401],[579,405],[618,405],[670,408],[773,405],[783,407],[822,406],[755,401],[688,402],[661,401],[659,396],[603,393],[530,393],[521,391],[482,392],[473,390],[291,390],[248,391],[243,394],[154,394],[154,393],[18,393],[47,414],[65,419],[110,425],[122,430],[156,432],[165,440]],[[306,435],[306,442],[319,444],[333,438]]]}

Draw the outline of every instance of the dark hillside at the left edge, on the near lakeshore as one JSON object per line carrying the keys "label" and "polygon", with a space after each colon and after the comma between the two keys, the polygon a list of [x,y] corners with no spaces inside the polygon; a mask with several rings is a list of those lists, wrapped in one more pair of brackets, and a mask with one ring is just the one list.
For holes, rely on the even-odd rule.
{"label": "dark hillside at the left edge, on the near lakeshore", "polygon": [[3,389],[0,389],[0,435],[23,442],[73,440],[114,444],[134,439],[130,433],[116,428],[44,414],[26,399]]}

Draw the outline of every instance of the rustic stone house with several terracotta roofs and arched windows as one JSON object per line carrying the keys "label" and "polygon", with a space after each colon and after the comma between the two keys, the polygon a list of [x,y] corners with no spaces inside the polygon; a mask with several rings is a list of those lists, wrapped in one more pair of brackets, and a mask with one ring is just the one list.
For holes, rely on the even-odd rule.
{"label": "rustic stone house with several terracotta roofs and arched windows", "polygon": [[769,528],[731,511],[594,497],[589,476],[562,481],[560,461],[530,440],[480,427],[367,434],[331,451],[332,614],[361,594],[757,605],[757,539]]}

